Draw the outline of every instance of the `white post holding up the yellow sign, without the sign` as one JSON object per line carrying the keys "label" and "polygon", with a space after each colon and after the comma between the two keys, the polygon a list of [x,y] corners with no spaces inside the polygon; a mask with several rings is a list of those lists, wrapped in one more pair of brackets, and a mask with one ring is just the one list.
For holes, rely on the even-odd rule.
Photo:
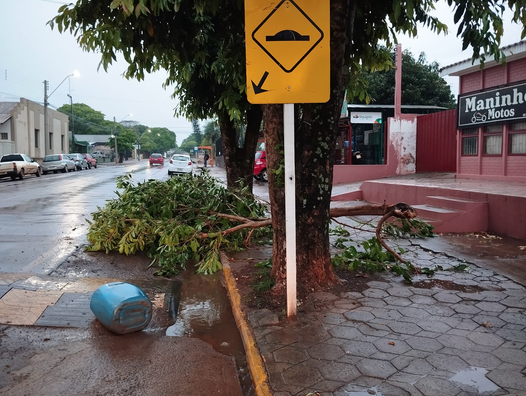
{"label": "white post holding up the yellow sign, without the sign", "polygon": [[296,166],[294,104],[283,105],[285,151],[285,235],[287,238],[287,316],[296,316]]}

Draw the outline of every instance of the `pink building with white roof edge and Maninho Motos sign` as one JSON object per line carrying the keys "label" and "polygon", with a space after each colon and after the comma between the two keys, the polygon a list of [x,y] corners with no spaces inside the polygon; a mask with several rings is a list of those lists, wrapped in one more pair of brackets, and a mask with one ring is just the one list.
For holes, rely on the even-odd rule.
{"label": "pink building with white roof edge and Maninho Motos sign", "polygon": [[526,40],[502,48],[504,65],[472,59],[446,66],[458,76],[458,178],[526,181]]}

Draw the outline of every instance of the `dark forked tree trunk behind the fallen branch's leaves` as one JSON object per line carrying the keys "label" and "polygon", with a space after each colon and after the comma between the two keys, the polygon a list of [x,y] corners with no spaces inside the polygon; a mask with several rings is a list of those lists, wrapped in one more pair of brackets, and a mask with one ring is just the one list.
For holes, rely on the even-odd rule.
{"label": "dark forked tree trunk behind the fallen branch's leaves", "polygon": [[219,129],[221,130],[225,168],[227,171],[227,186],[229,188],[238,187],[238,181],[241,179],[244,186],[249,186],[250,191],[252,191],[254,157],[262,119],[261,106],[252,105],[248,108],[245,141],[241,148],[238,147],[237,128],[234,121],[230,120],[228,111],[224,111],[219,118]]}

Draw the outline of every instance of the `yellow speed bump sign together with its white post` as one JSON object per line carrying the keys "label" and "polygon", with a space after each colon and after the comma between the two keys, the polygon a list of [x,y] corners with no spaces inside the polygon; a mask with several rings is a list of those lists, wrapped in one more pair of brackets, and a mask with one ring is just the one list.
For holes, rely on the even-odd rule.
{"label": "yellow speed bump sign together with its white post", "polygon": [[329,2],[245,0],[247,98],[283,103],[287,316],[296,317],[294,103],[330,97]]}

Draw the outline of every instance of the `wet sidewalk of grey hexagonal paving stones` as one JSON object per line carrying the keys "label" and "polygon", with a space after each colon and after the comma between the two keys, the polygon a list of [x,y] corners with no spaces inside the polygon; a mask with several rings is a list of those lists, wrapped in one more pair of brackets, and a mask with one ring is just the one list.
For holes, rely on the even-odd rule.
{"label": "wet sidewalk of grey hexagonal paving stones", "polygon": [[[472,292],[474,278],[488,290]],[[524,287],[476,266],[414,281],[424,287],[387,274],[362,292],[324,292],[317,311],[256,328],[275,395],[526,395]]]}

